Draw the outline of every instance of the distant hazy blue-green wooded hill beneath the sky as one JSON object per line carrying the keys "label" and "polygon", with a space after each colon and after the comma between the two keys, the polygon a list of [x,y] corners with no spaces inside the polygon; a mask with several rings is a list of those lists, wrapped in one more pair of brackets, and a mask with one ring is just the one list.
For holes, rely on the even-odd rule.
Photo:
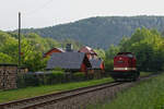
{"label": "distant hazy blue-green wooded hill beneath the sky", "polygon": [[163,32],[164,16],[98,16],[22,32],[37,33],[57,40],[74,39],[93,48],[108,48],[110,44],[117,45],[122,36],[131,36],[136,28],[143,26]]}

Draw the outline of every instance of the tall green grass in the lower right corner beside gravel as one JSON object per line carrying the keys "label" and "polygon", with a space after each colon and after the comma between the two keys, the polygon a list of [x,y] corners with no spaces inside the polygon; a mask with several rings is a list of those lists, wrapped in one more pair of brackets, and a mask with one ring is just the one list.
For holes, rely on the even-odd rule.
{"label": "tall green grass in the lower right corner beside gravel", "polygon": [[117,95],[113,101],[87,109],[164,109],[164,74]]}

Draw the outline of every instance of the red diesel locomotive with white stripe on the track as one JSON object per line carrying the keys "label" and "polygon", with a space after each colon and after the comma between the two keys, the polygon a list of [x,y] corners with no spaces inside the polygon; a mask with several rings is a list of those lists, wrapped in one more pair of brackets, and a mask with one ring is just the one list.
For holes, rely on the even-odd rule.
{"label": "red diesel locomotive with white stripe on the track", "polygon": [[114,71],[110,76],[115,81],[136,81],[140,72],[137,71],[136,57],[131,52],[119,52],[114,58]]}

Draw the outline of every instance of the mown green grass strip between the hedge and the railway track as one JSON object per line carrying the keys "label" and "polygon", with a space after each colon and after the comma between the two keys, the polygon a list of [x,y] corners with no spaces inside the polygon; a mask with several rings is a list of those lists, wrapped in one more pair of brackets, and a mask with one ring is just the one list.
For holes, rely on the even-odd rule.
{"label": "mown green grass strip between the hedge and the railway track", "polygon": [[45,95],[57,93],[61,90],[69,90],[79,87],[85,87],[102,83],[112,82],[113,78],[106,77],[101,80],[91,80],[86,82],[75,82],[75,83],[65,83],[65,84],[56,84],[56,85],[47,85],[47,86],[37,86],[37,87],[27,87],[12,90],[0,90],[0,102],[5,102],[10,100],[16,100],[22,98],[30,98],[34,96]]}

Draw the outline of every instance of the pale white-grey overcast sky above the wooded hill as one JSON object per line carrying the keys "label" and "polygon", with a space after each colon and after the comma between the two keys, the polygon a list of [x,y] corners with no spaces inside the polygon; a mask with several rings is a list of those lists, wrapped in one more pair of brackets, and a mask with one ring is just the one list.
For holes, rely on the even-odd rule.
{"label": "pale white-grey overcast sky above the wooded hill", "polygon": [[0,0],[0,29],[40,28],[93,16],[164,15],[163,0]]}

